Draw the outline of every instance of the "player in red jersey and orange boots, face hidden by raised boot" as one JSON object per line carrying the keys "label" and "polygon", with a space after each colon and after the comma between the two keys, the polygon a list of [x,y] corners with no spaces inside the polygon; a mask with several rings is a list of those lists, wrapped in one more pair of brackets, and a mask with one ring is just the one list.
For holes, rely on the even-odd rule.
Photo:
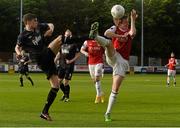
{"label": "player in red jersey and orange boots, face hidden by raised boot", "polygon": [[101,88],[104,48],[95,40],[86,40],[81,47],[81,53],[88,57],[89,73],[96,88],[94,103],[104,103],[104,93]]}

